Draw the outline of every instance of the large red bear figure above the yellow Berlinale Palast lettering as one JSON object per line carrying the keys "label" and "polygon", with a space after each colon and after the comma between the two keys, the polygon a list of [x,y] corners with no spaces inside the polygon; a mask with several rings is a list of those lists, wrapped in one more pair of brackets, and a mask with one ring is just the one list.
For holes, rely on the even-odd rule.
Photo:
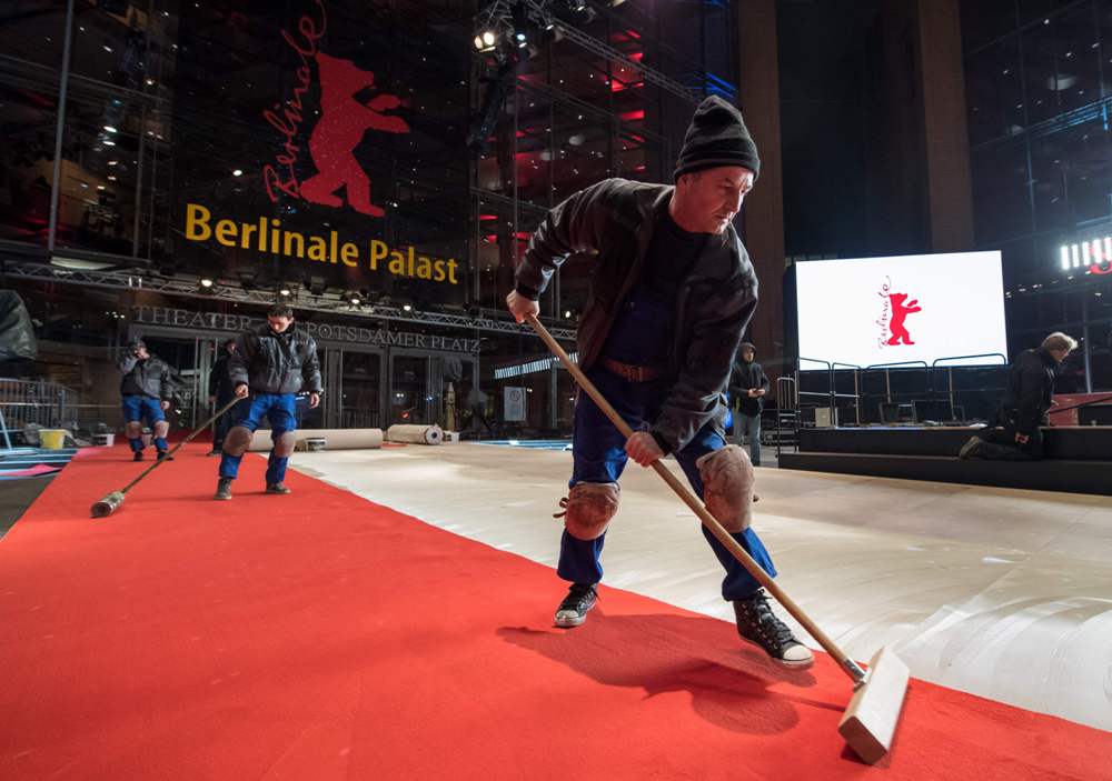
{"label": "large red bear figure above the yellow Berlinale Palast lettering", "polygon": [[356,211],[370,217],[386,212],[370,202],[370,178],[355,159],[355,148],[367,130],[408,133],[409,126],[400,117],[383,113],[398,108],[401,100],[393,94],[378,94],[369,103],[356,100],[363,90],[374,87],[375,74],[359,70],[349,60],[317,52],[320,73],[320,120],[309,137],[309,152],[318,173],[301,184],[301,198],[327,207],[341,207],[336,196],[347,189],[347,202]]}

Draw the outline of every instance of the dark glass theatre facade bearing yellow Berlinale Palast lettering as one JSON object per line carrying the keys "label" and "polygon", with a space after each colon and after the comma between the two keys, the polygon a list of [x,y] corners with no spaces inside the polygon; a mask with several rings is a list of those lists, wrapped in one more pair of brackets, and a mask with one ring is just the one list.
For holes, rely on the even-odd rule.
{"label": "dark glass theatre facade bearing yellow Berlinale Palast lettering", "polygon": [[[42,359],[0,373],[107,409],[111,359],[142,334],[187,424],[220,339],[280,299],[321,344],[321,424],[446,422],[451,382],[504,433],[566,432],[565,372],[499,371],[545,354],[503,313],[514,269],[576,190],[671,180],[694,101],[734,97],[736,21],[728,3],[532,7],[554,29],[479,53],[489,4],[457,0],[0,4],[0,259]],[[590,269],[554,280],[554,326],[574,327]],[[436,312],[487,326],[418,317]],[[504,420],[507,388],[525,420]]]}

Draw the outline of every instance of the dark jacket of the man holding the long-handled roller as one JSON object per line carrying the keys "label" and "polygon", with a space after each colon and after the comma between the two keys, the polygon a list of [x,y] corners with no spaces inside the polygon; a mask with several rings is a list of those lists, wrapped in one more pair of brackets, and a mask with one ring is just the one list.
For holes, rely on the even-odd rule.
{"label": "dark jacket of the man holding the long-handled roller", "polygon": [[261,326],[239,338],[239,349],[228,358],[232,388],[246,384],[252,393],[297,393],[304,387],[320,393],[317,343],[297,324],[282,333]]}

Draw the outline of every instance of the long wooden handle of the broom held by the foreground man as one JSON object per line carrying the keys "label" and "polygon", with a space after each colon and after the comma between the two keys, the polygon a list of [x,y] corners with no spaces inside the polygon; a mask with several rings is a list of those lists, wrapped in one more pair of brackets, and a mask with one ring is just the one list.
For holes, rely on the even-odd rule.
{"label": "long wooden handle of the broom held by the foreground man", "polygon": [[[548,346],[548,349],[553,351],[553,354],[560,360],[564,368],[572,372],[572,377],[574,377],[575,381],[579,383],[579,387],[587,392],[587,395],[592,398],[598,409],[600,409],[603,413],[610,419],[610,422],[614,423],[617,430],[622,432],[622,435],[626,439],[633,437],[634,432],[633,429],[629,428],[629,424],[622,419],[622,415],[619,415],[613,407],[610,407],[610,403],[603,397],[602,393],[598,392],[598,389],[595,388],[595,384],[587,379],[587,376],[583,373],[583,370],[572,362],[572,359],[568,358],[568,354],[564,351],[564,348],[559,346],[559,342],[553,339],[553,336],[548,333],[548,330],[543,324],[540,324],[540,321],[533,314],[527,314],[526,320],[530,326],[533,326],[537,336],[539,336],[544,340],[545,344]],[[850,677],[850,680],[854,683],[860,683],[864,680],[865,671],[862,670],[855,661],[850,659],[845,652],[838,648],[837,643],[835,643],[826,634],[826,632],[821,630],[791,597],[784,593],[784,591],[776,585],[776,582],[768,577],[767,572],[761,569],[761,565],[753,560],[753,557],[751,557],[744,548],[742,548],[741,543],[731,537],[729,532],[723,529],[722,524],[718,523],[715,517],[712,515],[705,507],[703,507],[703,502],[701,502],[698,498],[692,493],[691,489],[679,482],[679,479],[673,474],[659,459],[653,462],[653,469],[655,469],[656,473],[664,479],[664,482],[668,483],[668,487],[676,492],[676,495],[683,499],[684,503],[687,504],[687,507],[689,507],[696,515],[698,515],[703,525],[706,527],[712,534],[714,534],[715,539],[717,539],[718,542],[721,542],[723,547],[725,547],[725,549],[728,550],[746,570],[748,570],[749,574],[752,574],[757,582],[761,583],[761,585],[767,589],[772,595],[776,598],[777,602],[784,605],[787,612],[795,617],[796,621],[803,624],[803,628],[807,630],[811,637],[818,641],[818,644],[822,645],[828,654],[837,660],[842,670],[844,670],[845,674]]]}

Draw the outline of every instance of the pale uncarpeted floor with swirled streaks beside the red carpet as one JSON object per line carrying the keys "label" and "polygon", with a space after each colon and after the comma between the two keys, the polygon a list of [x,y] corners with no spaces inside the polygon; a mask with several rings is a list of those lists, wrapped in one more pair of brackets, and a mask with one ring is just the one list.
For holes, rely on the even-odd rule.
{"label": "pale uncarpeted floor with swirled streaks beside the red carpet", "polygon": [[[552,567],[563,528],[552,513],[570,464],[569,452],[481,444],[294,459],[335,485]],[[695,515],[649,470],[631,467],[622,483],[605,582],[732,621]],[[892,644],[916,678],[1112,730],[1108,498],[772,468],[757,470],[757,490],[755,527],[778,583],[851,655]],[[498,584],[467,588],[479,598]],[[536,598],[555,608],[564,590],[554,573]]]}

